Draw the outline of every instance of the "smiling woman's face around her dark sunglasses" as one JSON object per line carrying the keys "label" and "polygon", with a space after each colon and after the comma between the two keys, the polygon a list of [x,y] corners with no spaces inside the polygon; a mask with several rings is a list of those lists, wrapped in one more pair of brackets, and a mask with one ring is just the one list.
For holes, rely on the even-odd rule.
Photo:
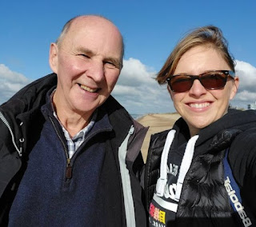
{"label": "smiling woman's face around her dark sunglasses", "polygon": [[[230,70],[230,66],[213,48],[196,46],[182,55],[174,75],[198,75],[210,70]],[[191,137],[227,113],[237,88],[238,78],[230,77],[226,86],[219,90],[207,90],[198,80],[194,80],[190,90],[182,93],[173,92],[168,86],[174,107],[189,126]]]}

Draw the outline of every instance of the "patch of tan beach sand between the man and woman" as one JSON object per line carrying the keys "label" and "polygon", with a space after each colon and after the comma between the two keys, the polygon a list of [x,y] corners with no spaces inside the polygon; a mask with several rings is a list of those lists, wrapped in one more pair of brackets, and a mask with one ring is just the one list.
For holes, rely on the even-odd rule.
{"label": "patch of tan beach sand between the man and woman", "polygon": [[177,121],[179,117],[180,115],[178,113],[150,113],[137,119],[137,121],[142,125],[150,126],[142,144],[142,156],[144,161],[146,161],[151,135],[162,132],[166,129],[171,129],[174,122]]}

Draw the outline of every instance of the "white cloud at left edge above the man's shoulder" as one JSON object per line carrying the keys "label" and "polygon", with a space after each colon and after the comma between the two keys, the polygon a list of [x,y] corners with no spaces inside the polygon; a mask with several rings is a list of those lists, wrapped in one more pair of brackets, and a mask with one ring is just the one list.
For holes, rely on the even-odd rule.
{"label": "white cloud at left edge above the man's shoulder", "polygon": [[6,102],[23,86],[26,86],[30,80],[10,70],[7,66],[0,64],[0,104]]}

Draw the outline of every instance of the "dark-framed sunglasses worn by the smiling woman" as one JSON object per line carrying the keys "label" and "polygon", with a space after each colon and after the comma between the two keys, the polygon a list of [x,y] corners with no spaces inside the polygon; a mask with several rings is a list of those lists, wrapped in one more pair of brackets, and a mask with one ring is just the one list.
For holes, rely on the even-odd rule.
{"label": "dark-framed sunglasses worn by the smiling woman", "polygon": [[230,70],[214,70],[200,75],[178,74],[166,79],[170,90],[185,92],[193,86],[194,80],[199,80],[202,86],[209,90],[221,89],[226,85],[227,77],[234,78],[234,72]]}

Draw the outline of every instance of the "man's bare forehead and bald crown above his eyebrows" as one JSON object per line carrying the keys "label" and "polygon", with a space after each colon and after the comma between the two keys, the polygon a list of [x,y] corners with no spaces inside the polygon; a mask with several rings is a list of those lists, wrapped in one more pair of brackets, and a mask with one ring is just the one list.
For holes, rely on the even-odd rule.
{"label": "man's bare forehead and bald crown above his eyebrows", "polygon": [[68,49],[84,50],[92,54],[106,50],[111,58],[122,58],[122,35],[117,27],[105,18],[84,16],[74,19],[63,42],[66,44],[62,47],[66,46]]}

